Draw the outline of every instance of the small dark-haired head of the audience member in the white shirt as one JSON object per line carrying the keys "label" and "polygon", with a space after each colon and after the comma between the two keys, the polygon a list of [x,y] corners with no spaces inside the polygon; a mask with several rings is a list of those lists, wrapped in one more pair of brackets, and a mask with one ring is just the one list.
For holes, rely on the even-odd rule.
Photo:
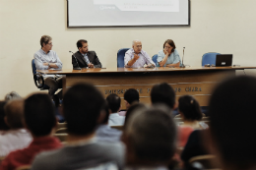
{"label": "small dark-haired head of the audience member in the white shirt", "polygon": [[117,94],[115,93],[109,94],[106,97],[106,101],[107,101],[110,113],[117,113],[120,110],[121,98]]}

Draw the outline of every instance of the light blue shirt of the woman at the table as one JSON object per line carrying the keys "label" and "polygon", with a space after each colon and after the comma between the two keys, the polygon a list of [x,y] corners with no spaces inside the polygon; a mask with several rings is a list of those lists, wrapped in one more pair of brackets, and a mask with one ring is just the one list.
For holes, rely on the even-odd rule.
{"label": "light blue shirt of the woman at the table", "polygon": [[[157,59],[158,60],[158,64],[157,64],[158,67],[160,67],[159,62],[161,62],[161,60],[164,58],[164,56],[165,56],[165,54],[163,53],[163,50],[160,50],[160,52],[158,54],[158,59]],[[178,62],[180,62],[179,65],[181,66],[182,63],[181,63],[178,51],[176,49],[174,49],[174,51],[172,53],[170,53],[170,55],[168,56],[167,61],[163,65],[163,67],[165,67],[167,64],[176,64]]]}

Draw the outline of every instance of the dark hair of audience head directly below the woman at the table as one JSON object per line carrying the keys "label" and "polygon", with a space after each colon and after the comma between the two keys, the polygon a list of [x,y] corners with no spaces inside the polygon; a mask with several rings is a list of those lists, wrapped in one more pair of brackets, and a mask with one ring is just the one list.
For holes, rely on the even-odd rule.
{"label": "dark hair of audience head directly below the woman at the table", "polygon": [[175,104],[175,91],[166,83],[154,85],[151,90],[151,101],[153,104],[166,104],[169,108],[173,109]]}

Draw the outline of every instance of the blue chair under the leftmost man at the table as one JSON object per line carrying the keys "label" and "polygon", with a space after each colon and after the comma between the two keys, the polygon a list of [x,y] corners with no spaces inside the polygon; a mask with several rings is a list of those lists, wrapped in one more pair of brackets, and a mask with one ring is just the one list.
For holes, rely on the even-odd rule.
{"label": "blue chair under the leftmost man at the table", "polygon": [[34,85],[40,90],[49,89],[48,85],[44,85],[43,77],[40,74],[36,74],[36,68],[34,64],[34,59],[32,59],[32,77]]}

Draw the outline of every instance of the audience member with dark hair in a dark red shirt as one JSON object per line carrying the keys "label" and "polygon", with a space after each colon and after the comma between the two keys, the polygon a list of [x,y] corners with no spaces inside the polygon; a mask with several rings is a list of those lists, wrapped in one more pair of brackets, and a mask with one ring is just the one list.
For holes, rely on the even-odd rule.
{"label": "audience member with dark hair in a dark red shirt", "polygon": [[15,170],[20,166],[30,165],[37,153],[62,145],[52,137],[57,122],[49,95],[32,94],[25,100],[24,107],[25,126],[32,134],[32,143],[8,154],[2,161],[0,170]]}

